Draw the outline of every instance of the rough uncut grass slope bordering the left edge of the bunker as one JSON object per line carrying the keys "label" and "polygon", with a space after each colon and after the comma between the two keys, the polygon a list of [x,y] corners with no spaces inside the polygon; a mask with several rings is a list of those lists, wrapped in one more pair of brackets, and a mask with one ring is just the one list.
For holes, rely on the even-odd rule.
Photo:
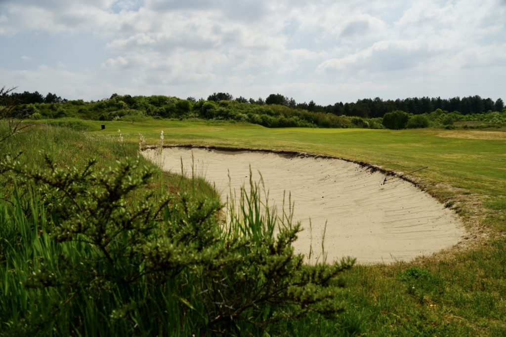
{"label": "rough uncut grass slope bordering the left edge of the bunker", "polygon": [[[13,135],[7,141],[0,143],[0,153],[20,152],[20,161],[28,166],[40,165],[44,161],[45,154],[48,154],[55,164],[64,167],[83,167],[89,159],[95,158],[97,168],[108,167],[120,158],[138,156],[138,143],[119,141],[118,134],[104,137],[90,132],[75,132],[75,129],[69,126],[77,125],[76,129],[82,130],[80,121],[75,120],[76,123],[72,119],[63,120],[63,122],[56,121],[59,122],[56,125],[37,123],[25,129],[24,132]],[[88,122],[84,123],[87,125]],[[64,127],[59,125],[64,125]],[[0,125],[0,127],[5,127],[5,125]],[[150,164],[142,156],[140,160],[146,165]],[[182,179],[178,174],[163,172],[159,169],[156,176],[157,178],[147,188],[160,195],[167,189],[177,192],[180,189],[191,188],[198,190],[199,194],[217,196],[213,187],[201,178],[189,181]],[[133,197],[132,202],[135,202],[136,195],[134,194]]]}

